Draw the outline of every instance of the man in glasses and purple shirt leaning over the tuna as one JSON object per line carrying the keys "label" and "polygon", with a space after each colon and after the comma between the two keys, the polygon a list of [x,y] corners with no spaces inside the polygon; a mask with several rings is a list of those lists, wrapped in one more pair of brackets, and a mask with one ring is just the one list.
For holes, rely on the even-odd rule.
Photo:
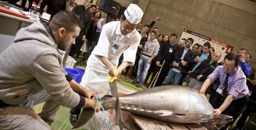
{"label": "man in glasses and purple shirt leaning over the tuna", "polygon": [[[203,83],[200,94],[205,97],[205,92],[211,83],[220,78],[220,86],[210,96],[213,105],[214,116],[223,113],[233,116],[233,122],[241,114],[248,101],[249,89],[246,85],[246,77],[239,67],[239,57],[236,54],[228,54],[224,58],[224,64],[218,66]],[[232,125],[232,124],[231,124]]]}

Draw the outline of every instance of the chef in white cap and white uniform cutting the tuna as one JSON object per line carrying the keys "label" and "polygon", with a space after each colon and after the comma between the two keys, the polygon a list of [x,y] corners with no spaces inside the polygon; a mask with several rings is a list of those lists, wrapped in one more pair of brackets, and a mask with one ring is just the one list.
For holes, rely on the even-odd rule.
{"label": "chef in white cap and white uniform cutting the tuna", "polygon": [[[87,60],[87,68],[80,83],[83,87],[101,96],[110,94],[108,76],[119,77],[124,68],[134,65],[141,39],[136,27],[142,15],[139,6],[130,4],[124,11],[121,21],[109,22],[103,26],[98,44]],[[117,68],[122,53],[124,60]],[[71,116],[79,115],[80,110],[72,114]]]}

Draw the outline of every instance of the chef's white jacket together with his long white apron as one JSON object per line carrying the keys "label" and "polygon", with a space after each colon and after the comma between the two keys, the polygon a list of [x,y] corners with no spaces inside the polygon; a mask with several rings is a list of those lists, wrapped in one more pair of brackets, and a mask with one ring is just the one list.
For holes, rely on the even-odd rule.
{"label": "chef's white jacket together with his long white apron", "polygon": [[[134,65],[141,36],[137,30],[127,35],[122,35],[120,23],[117,21],[109,22],[103,26],[98,44],[87,61],[85,74],[80,84],[87,89],[95,91],[96,94],[109,91],[109,70],[101,62],[98,55],[108,58],[113,65],[117,66],[119,57],[124,52],[123,62],[130,62],[130,65]],[[113,49],[113,46],[116,50]]]}

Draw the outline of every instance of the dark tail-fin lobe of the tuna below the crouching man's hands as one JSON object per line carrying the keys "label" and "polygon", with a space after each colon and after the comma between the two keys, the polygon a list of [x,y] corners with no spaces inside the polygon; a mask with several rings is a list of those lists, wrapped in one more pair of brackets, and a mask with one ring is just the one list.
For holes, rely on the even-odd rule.
{"label": "dark tail-fin lobe of the tuna below the crouching man's hands", "polygon": [[83,124],[86,124],[94,115],[94,110],[91,108],[83,108],[83,112],[80,114],[79,120],[75,123],[74,128],[80,128]]}

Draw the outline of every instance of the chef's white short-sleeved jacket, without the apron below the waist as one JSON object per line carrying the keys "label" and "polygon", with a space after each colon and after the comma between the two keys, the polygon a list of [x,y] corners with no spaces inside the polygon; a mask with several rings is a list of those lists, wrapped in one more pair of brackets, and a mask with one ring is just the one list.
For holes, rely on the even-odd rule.
{"label": "chef's white short-sleeved jacket, without the apron below the waist", "polygon": [[[118,65],[119,57],[124,52],[123,62],[130,62],[134,65],[136,52],[140,43],[141,36],[137,30],[127,35],[122,35],[120,22],[109,22],[103,26],[97,46],[93,49],[90,58],[87,61],[87,68],[108,73],[108,68],[101,62],[103,56],[109,59],[113,65]],[[113,46],[116,44],[118,48],[114,51]]]}

